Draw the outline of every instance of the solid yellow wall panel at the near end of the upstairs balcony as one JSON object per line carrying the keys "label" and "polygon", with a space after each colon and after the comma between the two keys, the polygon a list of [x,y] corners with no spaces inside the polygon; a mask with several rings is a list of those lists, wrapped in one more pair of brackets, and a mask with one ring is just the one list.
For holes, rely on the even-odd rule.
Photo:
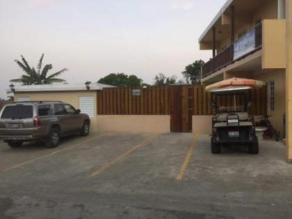
{"label": "solid yellow wall panel at the near end of the upstairs balcony", "polygon": [[262,68],[286,68],[286,21],[265,19],[263,21]]}

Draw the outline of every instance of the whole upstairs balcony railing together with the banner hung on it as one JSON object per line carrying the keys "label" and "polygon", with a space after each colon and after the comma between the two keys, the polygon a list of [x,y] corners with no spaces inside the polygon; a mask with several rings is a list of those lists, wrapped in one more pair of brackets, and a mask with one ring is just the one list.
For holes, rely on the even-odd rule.
{"label": "whole upstairs balcony railing together with the banner hung on it", "polygon": [[[245,33],[241,36],[236,42],[231,44],[229,47],[222,50],[217,56],[209,60],[207,63],[205,63],[202,66],[202,78],[209,76],[213,72],[216,72],[220,70],[222,67],[225,67],[231,63],[233,63],[236,60],[239,60],[241,58],[244,58],[252,53],[254,51],[257,51],[261,48],[262,44],[262,25],[261,23],[257,24],[253,29],[248,31],[248,33]],[[254,38],[254,40],[253,40]],[[248,47],[246,50],[242,50],[241,42],[248,41]],[[236,49],[234,49],[236,48]],[[235,52],[235,54],[234,54]]]}

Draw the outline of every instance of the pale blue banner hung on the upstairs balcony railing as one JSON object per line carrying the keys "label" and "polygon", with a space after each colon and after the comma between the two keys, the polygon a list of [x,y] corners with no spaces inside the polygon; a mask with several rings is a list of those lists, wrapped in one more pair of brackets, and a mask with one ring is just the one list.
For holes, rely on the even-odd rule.
{"label": "pale blue banner hung on the upstairs balcony railing", "polygon": [[234,60],[256,49],[256,31],[245,33],[239,40],[234,42]]}

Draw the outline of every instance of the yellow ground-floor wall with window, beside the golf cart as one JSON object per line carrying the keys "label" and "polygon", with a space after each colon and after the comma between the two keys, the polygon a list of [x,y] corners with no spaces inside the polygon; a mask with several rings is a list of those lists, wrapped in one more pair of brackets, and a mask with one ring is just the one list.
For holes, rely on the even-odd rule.
{"label": "yellow ground-floor wall with window, beside the golf cart", "polygon": [[[271,80],[275,81],[275,111],[270,111],[268,106],[267,113],[268,115],[273,115],[269,120],[272,122],[273,127],[280,132],[282,137],[284,133],[283,115],[286,112],[285,70],[273,70],[271,72],[252,76],[252,79],[266,82]],[[267,98],[269,102],[269,97]]]}

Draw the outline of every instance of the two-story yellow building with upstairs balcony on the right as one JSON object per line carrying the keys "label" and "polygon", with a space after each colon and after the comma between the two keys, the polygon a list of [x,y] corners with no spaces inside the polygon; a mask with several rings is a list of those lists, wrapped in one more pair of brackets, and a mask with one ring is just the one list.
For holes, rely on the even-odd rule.
{"label": "two-story yellow building with upstairs balcony on the right", "polygon": [[202,66],[202,83],[232,77],[266,81],[267,114],[281,136],[286,130],[289,10],[291,0],[228,0],[199,39],[201,50],[213,51]]}

